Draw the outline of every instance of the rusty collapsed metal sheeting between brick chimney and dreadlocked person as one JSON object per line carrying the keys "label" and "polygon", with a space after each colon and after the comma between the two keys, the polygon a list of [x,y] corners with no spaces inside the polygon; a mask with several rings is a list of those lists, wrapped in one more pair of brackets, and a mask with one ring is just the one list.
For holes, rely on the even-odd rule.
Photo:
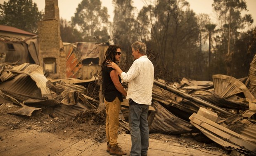
{"label": "rusty collapsed metal sheeting between brick chimney and dreadlocked person", "polygon": [[97,71],[101,70],[107,48],[105,43],[65,43],[67,78],[91,79]]}

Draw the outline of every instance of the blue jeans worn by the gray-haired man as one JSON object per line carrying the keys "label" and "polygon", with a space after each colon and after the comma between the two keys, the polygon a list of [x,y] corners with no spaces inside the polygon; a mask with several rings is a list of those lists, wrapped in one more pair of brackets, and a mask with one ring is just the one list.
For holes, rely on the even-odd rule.
{"label": "blue jeans worn by the gray-haired man", "polygon": [[147,112],[149,105],[129,101],[129,127],[132,140],[130,156],[146,155],[149,147]]}

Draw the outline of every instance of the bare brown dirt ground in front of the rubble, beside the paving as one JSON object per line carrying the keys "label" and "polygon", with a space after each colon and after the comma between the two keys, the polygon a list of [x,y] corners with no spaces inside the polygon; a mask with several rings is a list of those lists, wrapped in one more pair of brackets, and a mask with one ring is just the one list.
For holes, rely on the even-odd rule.
{"label": "bare brown dirt ground in front of the rubble, beside the paving", "polygon": [[[83,112],[75,117],[54,119],[0,113],[0,153],[3,156],[26,155],[28,152],[32,155],[52,156],[79,140],[107,142],[104,124],[104,112],[95,110]],[[163,135],[155,133],[150,134],[149,137],[187,148],[228,152],[215,142],[206,140],[207,138],[203,140],[208,143],[198,142],[200,138],[198,134]]]}

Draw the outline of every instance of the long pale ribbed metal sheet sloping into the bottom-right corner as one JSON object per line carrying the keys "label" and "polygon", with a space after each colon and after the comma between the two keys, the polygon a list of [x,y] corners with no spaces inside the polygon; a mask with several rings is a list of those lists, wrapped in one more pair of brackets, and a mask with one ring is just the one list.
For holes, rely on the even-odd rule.
{"label": "long pale ribbed metal sheet sloping into the bottom-right corner", "polygon": [[[249,122],[247,120],[247,122]],[[248,135],[243,135],[238,131],[244,131],[247,129],[249,131],[255,131],[255,124],[250,124],[251,127],[248,128],[248,124],[242,124],[241,122],[237,125],[238,131],[232,131],[232,128],[221,126],[211,120],[194,113],[190,116],[190,123],[193,124],[196,128],[198,128],[204,135],[218,143],[219,145],[225,147],[226,149],[235,149],[237,151],[243,152],[249,155],[256,155],[256,140],[255,136],[253,138],[248,137]],[[233,129],[234,129],[234,125]],[[255,132],[254,132],[255,134]]]}

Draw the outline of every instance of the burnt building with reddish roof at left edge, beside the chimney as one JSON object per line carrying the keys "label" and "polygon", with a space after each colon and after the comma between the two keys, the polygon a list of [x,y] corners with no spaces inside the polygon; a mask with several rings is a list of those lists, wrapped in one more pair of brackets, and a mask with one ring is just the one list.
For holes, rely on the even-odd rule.
{"label": "burnt building with reddish roof at left edge, beside the chimney", "polygon": [[0,25],[0,62],[39,64],[38,36],[24,30]]}

